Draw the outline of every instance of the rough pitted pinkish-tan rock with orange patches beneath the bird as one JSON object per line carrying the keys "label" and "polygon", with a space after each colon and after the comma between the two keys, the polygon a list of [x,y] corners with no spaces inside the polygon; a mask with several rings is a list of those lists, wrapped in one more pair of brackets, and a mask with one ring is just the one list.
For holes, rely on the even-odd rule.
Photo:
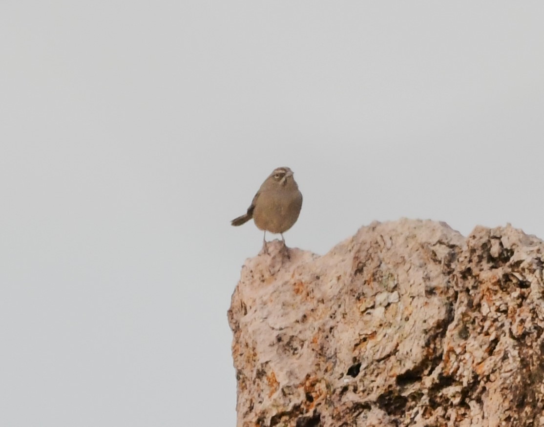
{"label": "rough pitted pinkish-tan rock with orange patches beneath the bird", "polygon": [[544,425],[544,243],[511,226],[269,244],[228,320],[239,427]]}

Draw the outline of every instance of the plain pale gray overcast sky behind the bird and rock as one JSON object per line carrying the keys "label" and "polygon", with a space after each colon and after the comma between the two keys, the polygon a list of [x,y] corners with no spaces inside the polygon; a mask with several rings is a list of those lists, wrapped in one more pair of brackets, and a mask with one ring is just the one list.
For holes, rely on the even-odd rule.
{"label": "plain pale gray overcast sky behind the bird and rock", "polygon": [[[542,2],[0,2],[0,425],[234,425],[226,311],[276,166],[289,246],[544,237]],[[272,236],[270,236],[272,237]]]}

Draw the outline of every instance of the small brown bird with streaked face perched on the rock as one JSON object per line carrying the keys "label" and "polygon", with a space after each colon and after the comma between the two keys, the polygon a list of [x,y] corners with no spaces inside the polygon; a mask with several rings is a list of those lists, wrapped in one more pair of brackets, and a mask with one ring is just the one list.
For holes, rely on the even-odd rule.
{"label": "small brown bird with streaked face perched on the rock", "polygon": [[240,226],[251,218],[259,230],[264,231],[263,249],[268,253],[267,231],[281,234],[283,246],[285,233],[299,218],[302,207],[302,193],[293,178],[293,171],[282,166],[276,168],[261,185],[248,208],[248,212],[231,221],[231,225]]}

